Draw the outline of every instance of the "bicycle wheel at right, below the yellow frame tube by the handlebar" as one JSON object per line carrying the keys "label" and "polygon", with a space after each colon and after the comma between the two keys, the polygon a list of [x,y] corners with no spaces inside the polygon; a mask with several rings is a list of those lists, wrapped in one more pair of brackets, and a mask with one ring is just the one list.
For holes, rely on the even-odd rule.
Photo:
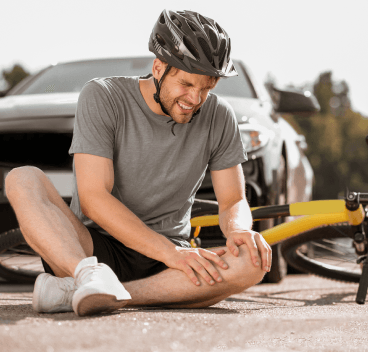
{"label": "bicycle wheel at right, below the yellow frame tube by the handlebar", "polygon": [[362,274],[348,223],[319,227],[285,240],[281,252],[289,265],[302,272],[348,282],[359,282]]}

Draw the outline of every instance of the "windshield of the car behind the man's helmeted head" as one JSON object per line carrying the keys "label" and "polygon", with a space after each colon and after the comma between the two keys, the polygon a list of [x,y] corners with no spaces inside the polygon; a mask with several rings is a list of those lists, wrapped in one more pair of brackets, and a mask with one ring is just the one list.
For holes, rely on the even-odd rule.
{"label": "windshield of the car behind the man's helmeted head", "polygon": [[[10,95],[80,92],[83,85],[96,77],[143,76],[152,70],[152,57],[101,59],[51,66]],[[213,90],[219,95],[253,98],[253,89],[235,61],[239,76],[221,79]]]}

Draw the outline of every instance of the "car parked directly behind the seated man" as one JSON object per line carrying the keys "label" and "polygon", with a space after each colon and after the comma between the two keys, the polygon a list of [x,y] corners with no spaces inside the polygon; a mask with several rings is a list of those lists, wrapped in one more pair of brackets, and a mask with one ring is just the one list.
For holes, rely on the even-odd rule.
{"label": "car parked directly behind the seated man", "polygon": [[[64,62],[24,79],[0,99],[0,177],[4,179],[13,167],[38,166],[69,202],[72,158],[68,149],[83,85],[95,77],[147,75],[152,61],[153,57],[131,57]],[[249,159],[242,166],[250,205],[310,200],[313,171],[303,152],[305,139],[280,113],[312,114],[319,109],[317,100],[309,92],[281,90],[274,90],[272,99],[243,62],[234,60],[234,65],[239,76],[221,79],[213,92],[232,105],[239,123]],[[216,199],[209,172],[197,198]],[[4,188],[0,210],[0,233],[18,226]],[[273,220],[255,223],[254,229],[260,231],[273,224]],[[223,244],[218,229],[208,231],[203,230],[203,246]],[[276,251],[273,257],[276,268],[281,258]],[[279,276],[282,274],[270,281],[278,281]]]}

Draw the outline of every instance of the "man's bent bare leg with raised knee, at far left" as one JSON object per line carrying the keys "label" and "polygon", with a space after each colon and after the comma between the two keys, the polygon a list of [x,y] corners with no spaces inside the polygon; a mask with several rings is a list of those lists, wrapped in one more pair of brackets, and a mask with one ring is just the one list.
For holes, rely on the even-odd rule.
{"label": "man's bent bare leg with raised knee, at far left", "polygon": [[56,276],[73,276],[78,263],[93,254],[87,228],[38,168],[20,167],[5,179],[6,194],[27,243]]}

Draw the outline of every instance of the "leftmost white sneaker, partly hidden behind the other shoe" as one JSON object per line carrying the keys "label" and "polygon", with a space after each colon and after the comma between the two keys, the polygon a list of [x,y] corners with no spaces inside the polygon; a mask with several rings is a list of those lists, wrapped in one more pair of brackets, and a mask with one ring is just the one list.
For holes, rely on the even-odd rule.
{"label": "leftmost white sneaker, partly hidden behind the other shoe", "polygon": [[72,277],[40,274],[33,290],[33,309],[38,313],[72,312],[72,298],[76,289]]}

